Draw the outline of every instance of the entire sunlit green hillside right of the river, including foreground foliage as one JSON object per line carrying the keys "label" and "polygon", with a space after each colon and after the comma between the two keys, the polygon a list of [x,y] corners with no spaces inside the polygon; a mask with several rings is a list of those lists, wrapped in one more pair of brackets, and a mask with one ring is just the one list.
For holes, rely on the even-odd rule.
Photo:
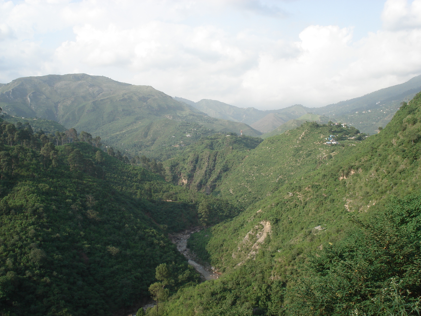
{"label": "entire sunlit green hillside right of the river, including foreground foliage", "polygon": [[322,145],[332,126],[307,123],[258,145],[220,185],[249,207],[190,241],[223,276],[180,290],[167,314],[417,314],[420,106],[361,143]]}

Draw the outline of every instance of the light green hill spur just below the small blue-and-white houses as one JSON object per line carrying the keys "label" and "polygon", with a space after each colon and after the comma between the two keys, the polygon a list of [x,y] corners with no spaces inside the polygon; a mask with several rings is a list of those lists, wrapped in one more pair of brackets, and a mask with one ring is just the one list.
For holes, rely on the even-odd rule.
{"label": "light green hill spur just below the small blue-and-white houses", "polygon": [[341,145],[323,144],[329,134],[348,135],[350,132],[349,129],[305,123],[298,129],[265,139],[218,185],[216,192],[253,204],[272,195],[282,185],[308,177],[320,163],[330,160],[349,144],[356,144],[350,140],[341,141]]}

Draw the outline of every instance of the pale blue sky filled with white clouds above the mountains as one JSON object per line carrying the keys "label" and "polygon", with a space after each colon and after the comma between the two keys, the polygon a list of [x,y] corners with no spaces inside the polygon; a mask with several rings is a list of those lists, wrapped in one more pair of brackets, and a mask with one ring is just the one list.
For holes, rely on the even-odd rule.
{"label": "pale blue sky filled with white clouds above the mountains", "polygon": [[421,74],[421,0],[0,0],[0,82],[87,73],[319,107]]}

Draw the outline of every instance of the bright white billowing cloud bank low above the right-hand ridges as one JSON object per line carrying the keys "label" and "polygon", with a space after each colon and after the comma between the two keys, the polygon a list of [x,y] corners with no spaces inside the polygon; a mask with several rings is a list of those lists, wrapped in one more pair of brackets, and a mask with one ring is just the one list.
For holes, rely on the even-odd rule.
{"label": "bright white billowing cloud bank low above the right-hand ridges", "polygon": [[251,99],[264,95],[271,107],[279,100],[319,106],[421,73],[421,29],[378,31],[354,43],[352,29],[310,26],[300,39],[294,58],[261,54],[259,66],[244,76]]}

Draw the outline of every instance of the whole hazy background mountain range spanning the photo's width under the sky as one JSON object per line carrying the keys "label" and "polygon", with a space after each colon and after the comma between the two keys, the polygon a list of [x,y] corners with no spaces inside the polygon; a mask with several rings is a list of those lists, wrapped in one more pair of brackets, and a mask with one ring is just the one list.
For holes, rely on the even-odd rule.
{"label": "whole hazy background mountain range spanning the photo's width under the sky", "polygon": [[[193,102],[172,98],[151,86],[69,74],[19,78],[3,84],[0,107],[15,118],[47,119],[67,129],[100,134],[105,144],[131,155],[157,158],[165,152],[169,158],[184,149],[180,145],[214,132],[242,131],[249,136],[265,134],[262,137],[266,138],[309,120],[327,123],[326,118],[375,134],[378,126],[391,120],[402,101],[408,101],[420,90],[421,76],[417,76],[406,83],[325,107],[295,104],[279,110],[258,110],[209,99]],[[313,113],[323,119],[310,117]]]}

